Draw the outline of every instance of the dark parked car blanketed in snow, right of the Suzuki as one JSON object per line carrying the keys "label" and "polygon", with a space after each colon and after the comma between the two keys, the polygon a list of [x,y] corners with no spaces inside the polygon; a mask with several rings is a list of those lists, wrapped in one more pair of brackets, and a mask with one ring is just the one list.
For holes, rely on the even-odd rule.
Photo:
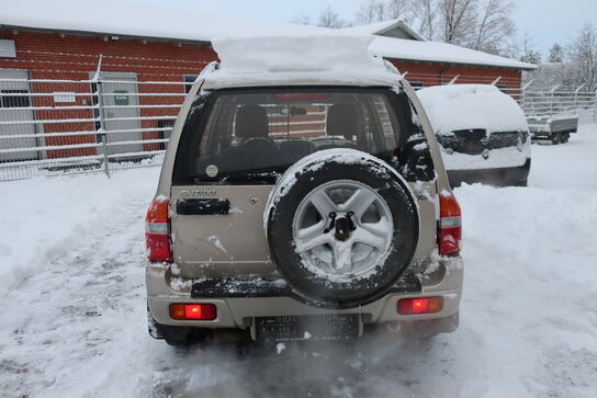
{"label": "dark parked car blanketed in snow, right of the Suzuki", "polygon": [[526,186],[531,139],[522,109],[488,84],[430,87],[417,93],[437,135],[452,186]]}

